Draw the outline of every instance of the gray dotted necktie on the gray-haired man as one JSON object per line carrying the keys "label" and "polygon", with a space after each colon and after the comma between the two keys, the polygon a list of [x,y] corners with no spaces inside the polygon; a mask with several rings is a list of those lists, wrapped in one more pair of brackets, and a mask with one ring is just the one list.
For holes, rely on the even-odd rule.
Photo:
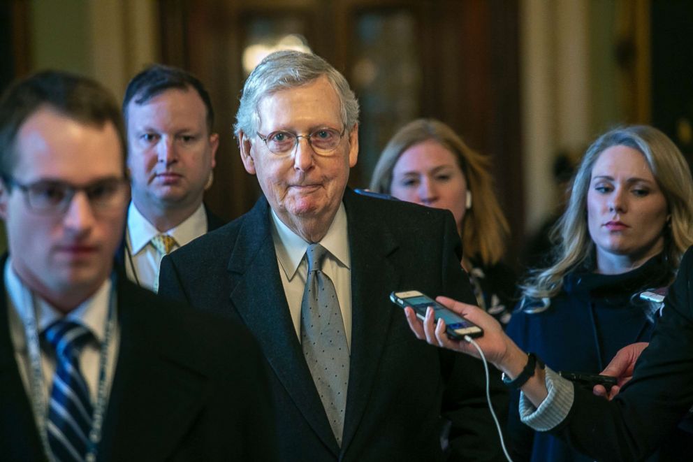
{"label": "gray dotted necktie on the gray-haired man", "polygon": [[301,345],[330,426],[341,446],[349,383],[349,349],[335,284],[321,270],[326,254],[327,250],[319,244],[309,245],[306,251],[308,277],[301,301]]}

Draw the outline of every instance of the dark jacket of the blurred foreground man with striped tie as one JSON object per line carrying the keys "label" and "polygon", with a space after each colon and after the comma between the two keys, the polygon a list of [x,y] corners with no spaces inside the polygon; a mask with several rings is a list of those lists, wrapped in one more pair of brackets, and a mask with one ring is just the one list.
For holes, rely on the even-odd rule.
{"label": "dark jacket of the blurred foreground man with striped tie", "polygon": [[[4,260],[0,271],[4,268]],[[261,352],[247,329],[119,276],[120,329],[99,461],[275,460]],[[45,461],[0,277],[0,459]]]}

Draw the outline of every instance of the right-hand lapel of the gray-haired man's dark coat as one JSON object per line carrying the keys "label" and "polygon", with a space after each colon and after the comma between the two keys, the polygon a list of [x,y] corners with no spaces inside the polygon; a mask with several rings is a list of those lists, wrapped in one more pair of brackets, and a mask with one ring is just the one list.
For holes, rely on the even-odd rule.
{"label": "right-hand lapel of the gray-haired man's dark coat", "polygon": [[349,189],[344,206],[351,252],[351,361],[343,442],[347,447],[373,391],[394,312],[388,296],[398,287],[400,275],[389,258],[398,247],[395,237],[382,222],[371,219],[377,211]]}

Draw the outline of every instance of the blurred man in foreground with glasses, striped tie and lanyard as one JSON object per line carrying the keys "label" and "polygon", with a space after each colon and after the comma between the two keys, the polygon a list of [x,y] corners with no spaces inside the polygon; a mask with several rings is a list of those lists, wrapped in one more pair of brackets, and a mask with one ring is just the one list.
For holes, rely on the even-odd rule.
{"label": "blurred man in foreground with glasses, striped tie and lanyard", "polygon": [[247,329],[112,270],[124,146],[117,104],[91,80],[39,73],[0,101],[2,459],[273,459]]}

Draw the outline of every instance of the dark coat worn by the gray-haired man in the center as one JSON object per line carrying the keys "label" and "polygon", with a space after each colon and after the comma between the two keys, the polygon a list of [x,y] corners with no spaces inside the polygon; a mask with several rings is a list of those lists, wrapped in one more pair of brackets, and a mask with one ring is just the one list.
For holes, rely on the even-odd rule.
{"label": "dark coat worn by the gray-haired man in the center", "polygon": [[[246,215],[165,257],[159,291],[239,319],[256,335],[272,370],[284,461],[442,460],[441,414],[452,421],[455,456],[501,460],[481,362],[417,340],[388,299],[391,291],[419,289],[473,303],[453,216],[350,190],[344,206],[352,333],[341,448],[291,322],[264,197]],[[498,374],[491,393],[504,412]]]}

